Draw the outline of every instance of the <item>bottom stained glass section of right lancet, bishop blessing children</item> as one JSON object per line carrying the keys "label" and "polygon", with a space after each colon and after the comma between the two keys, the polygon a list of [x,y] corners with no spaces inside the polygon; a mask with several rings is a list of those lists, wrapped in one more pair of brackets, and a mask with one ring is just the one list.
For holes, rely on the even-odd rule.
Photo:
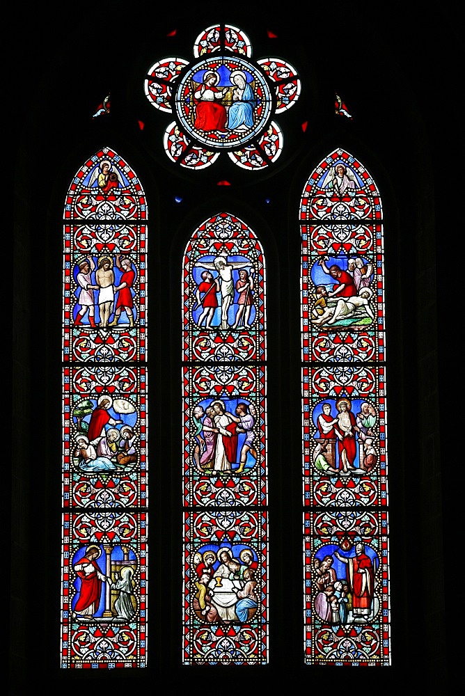
{"label": "bottom stained glass section of right lancet, bishop blessing children", "polygon": [[306,663],[391,663],[388,516],[378,509],[306,513]]}

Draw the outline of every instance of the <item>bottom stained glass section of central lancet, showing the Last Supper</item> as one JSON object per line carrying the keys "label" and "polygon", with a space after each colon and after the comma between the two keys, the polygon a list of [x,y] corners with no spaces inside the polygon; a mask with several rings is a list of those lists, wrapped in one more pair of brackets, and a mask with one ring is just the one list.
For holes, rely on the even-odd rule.
{"label": "bottom stained glass section of central lancet, showing the Last Supper", "polygon": [[184,663],[266,664],[267,513],[195,509],[184,528]]}

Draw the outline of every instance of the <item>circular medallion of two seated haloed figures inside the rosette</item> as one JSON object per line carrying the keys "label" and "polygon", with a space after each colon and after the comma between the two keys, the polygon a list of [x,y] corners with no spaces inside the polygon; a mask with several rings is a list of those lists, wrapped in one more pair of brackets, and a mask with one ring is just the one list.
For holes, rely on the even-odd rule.
{"label": "circular medallion of two seated haloed figures inside the rosette", "polygon": [[205,58],[187,70],[175,94],[182,130],[213,150],[242,148],[272,115],[264,75],[237,56]]}

